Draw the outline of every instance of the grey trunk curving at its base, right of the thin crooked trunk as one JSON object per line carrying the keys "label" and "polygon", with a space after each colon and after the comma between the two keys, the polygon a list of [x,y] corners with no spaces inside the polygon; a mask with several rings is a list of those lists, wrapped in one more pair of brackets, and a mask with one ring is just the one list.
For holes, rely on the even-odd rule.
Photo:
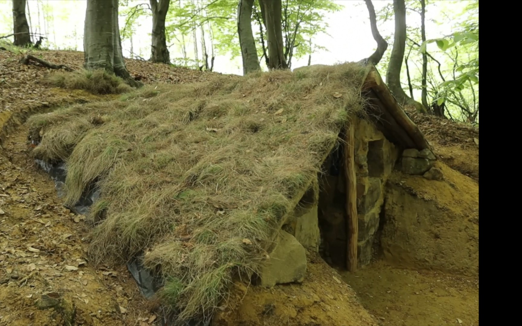
{"label": "grey trunk curving at its base, right of the thin crooked trunk", "polygon": [[402,68],[406,46],[406,5],[404,0],[394,0],[393,8],[395,12],[395,35],[388,71],[386,72],[386,83],[401,105],[413,105],[417,108],[417,111],[427,113],[424,105],[406,95],[400,84],[400,69]]}

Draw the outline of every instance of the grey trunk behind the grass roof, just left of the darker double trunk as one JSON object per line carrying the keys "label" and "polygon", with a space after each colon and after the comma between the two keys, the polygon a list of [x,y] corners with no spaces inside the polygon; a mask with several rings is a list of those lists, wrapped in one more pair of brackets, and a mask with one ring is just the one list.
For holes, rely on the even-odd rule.
{"label": "grey trunk behind the grass roof, just left of the darker double trunk", "polygon": [[252,7],[254,0],[239,0],[238,35],[243,58],[243,75],[251,71],[261,70],[257,57],[256,43],[252,32]]}

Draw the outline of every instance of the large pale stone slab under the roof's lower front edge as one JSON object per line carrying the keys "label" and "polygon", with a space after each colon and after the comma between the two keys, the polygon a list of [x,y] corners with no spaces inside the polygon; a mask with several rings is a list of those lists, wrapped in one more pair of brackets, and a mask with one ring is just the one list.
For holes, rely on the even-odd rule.
{"label": "large pale stone slab under the roof's lower front edge", "polygon": [[302,282],[306,275],[306,250],[286,231],[280,231],[276,247],[260,272],[260,285]]}

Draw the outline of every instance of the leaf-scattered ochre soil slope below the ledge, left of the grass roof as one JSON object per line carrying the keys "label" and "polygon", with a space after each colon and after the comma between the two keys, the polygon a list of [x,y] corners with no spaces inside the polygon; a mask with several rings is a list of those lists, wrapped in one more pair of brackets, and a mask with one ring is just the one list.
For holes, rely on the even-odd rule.
{"label": "leaf-scattered ochre soil slope below the ledge, left of the grass roof", "polygon": [[[124,267],[93,268],[88,230],[29,159],[27,131],[0,152],[0,325],[134,325],[150,313]],[[40,309],[42,295],[61,298]]]}

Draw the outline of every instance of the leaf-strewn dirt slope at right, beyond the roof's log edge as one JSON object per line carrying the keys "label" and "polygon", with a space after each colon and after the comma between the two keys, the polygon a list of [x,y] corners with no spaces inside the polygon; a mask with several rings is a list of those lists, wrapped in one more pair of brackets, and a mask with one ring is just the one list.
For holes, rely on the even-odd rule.
{"label": "leaf-strewn dirt slope at right, beyond the roof's log edge", "polygon": [[406,108],[441,160],[478,182],[479,128]]}

